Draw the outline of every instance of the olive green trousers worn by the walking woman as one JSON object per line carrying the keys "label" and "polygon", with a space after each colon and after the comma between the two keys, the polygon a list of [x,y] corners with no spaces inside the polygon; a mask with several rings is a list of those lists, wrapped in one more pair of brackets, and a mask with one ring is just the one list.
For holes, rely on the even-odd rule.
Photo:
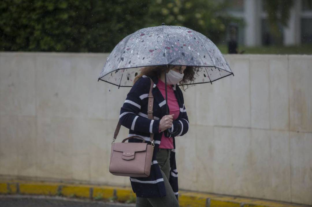
{"label": "olive green trousers worn by the walking woman", "polygon": [[158,149],[156,160],[160,167],[163,181],[166,188],[166,195],[156,198],[136,198],[136,207],[176,207],[179,206],[178,200],[174,195],[169,183],[170,175],[170,149]]}

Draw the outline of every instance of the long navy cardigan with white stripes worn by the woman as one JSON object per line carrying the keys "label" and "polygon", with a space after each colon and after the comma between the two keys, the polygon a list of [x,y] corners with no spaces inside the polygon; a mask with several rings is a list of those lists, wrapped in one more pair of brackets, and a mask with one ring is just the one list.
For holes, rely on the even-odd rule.
{"label": "long navy cardigan with white stripes worn by the woman", "polygon": [[[172,128],[167,132],[159,133],[158,127],[160,119],[166,115],[166,100],[159,91],[156,84],[158,83],[157,77],[151,77],[154,82],[152,90],[154,96],[153,116],[154,120],[148,119],[147,116],[147,104],[150,88],[150,79],[147,76],[139,78],[124,101],[123,106],[120,109],[119,121],[121,125],[129,128],[129,136],[140,136],[150,142],[150,133],[154,133],[154,153],[151,163],[151,172],[149,177],[130,177],[132,190],[137,197],[162,197],[166,195],[166,189],[163,182],[163,176],[160,172],[158,162],[156,160],[158,147],[162,134],[165,133],[166,137],[173,138],[173,150],[170,152],[170,176],[169,183],[173,189],[173,192],[178,199],[178,172],[176,169],[175,160],[175,137],[182,136],[187,133],[189,128],[188,116],[184,106],[184,99],[181,89],[178,85],[172,85],[174,94],[178,100],[180,107],[180,113],[176,120],[173,120]],[[169,111],[169,109],[168,109]],[[142,142],[140,139],[131,138],[129,142]]]}

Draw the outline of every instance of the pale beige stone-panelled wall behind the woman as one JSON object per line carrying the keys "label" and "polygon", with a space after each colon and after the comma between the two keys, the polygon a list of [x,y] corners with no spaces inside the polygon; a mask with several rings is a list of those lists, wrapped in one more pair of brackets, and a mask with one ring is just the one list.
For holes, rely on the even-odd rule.
{"label": "pale beige stone-panelled wall behind the woman", "polygon": [[[129,88],[97,82],[107,56],[0,53],[1,176],[130,186],[108,171]],[[311,205],[312,56],[225,58],[235,76],[184,92],[180,189]]]}

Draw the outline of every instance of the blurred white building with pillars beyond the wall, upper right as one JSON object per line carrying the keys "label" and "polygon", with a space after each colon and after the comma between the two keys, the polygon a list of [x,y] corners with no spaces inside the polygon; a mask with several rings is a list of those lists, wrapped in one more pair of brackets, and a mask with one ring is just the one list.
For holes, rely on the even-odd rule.
{"label": "blurred white building with pillars beyond the wall, upper right", "polygon": [[[267,23],[263,0],[229,0],[229,13],[245,21],[238,27],[238,44],[246,46],[300,45],[312,43],[312,0],[294,0],[288,27],[280,27],[282,36],[274,39]],[[274,0],[272,0],[274,1]]]}

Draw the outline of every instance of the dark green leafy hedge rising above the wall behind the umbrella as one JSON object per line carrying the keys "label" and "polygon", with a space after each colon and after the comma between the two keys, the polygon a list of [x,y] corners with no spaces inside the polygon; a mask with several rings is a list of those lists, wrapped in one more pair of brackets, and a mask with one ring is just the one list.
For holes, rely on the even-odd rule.
{"label": "dark green leafy hedge rising above the wall behind the umbrella", "polygon": [[0,50],[110,52],[126,35],[162,22],[219,41],[230,21],[224,7],[207,0],[2,0]]}

